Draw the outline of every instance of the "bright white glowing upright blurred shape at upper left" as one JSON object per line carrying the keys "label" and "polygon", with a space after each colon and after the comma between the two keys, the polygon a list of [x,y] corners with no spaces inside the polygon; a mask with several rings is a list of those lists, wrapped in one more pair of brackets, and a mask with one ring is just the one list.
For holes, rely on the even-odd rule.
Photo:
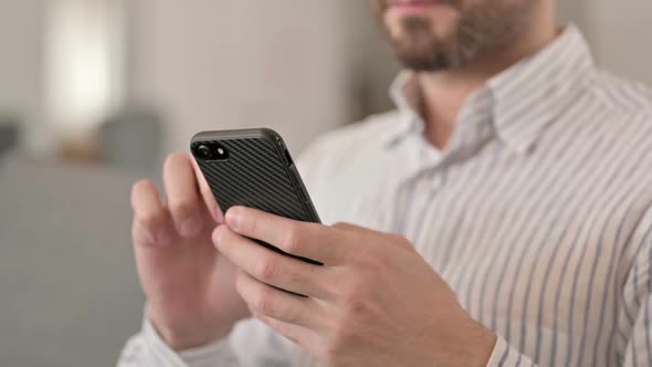
{"label": "bright white glowing upright blurred shape at upper left", "polygon": [[46,116],[64,140],[88,139],[123,98],[124,0],[51,0]]}

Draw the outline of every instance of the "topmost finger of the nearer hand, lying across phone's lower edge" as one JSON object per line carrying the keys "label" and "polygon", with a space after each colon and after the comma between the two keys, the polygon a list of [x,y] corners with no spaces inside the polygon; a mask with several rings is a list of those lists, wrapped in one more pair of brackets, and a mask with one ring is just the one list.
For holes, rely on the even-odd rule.
{"label": "topmost finger of the nearer hand, lying across phone's lower edge", "polygon": [[341,264],[346,258],[346,231],[337,228],[301,222],[244,207],[229,209],[225,220],[232,231],[270,243],[295,256],[327,265]]}

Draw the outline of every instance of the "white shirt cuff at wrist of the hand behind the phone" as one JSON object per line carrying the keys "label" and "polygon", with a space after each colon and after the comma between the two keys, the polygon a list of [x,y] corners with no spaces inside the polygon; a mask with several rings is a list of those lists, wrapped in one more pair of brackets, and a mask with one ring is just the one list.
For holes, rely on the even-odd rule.
{"label": "white shirt cuff at wrist of the hand behind the phone", "polygon": [[176,353],[162,340],[147,316],[143,322],[141,335],[153,357],[165,367],[238,366],[238,359],[228,337],[198,348]]}

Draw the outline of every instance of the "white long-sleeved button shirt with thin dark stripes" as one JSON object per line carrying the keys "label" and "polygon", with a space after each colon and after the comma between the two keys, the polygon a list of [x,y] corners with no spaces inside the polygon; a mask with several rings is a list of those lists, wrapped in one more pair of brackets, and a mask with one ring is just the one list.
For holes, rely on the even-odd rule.
{"label": "white long-sleeved button shirt with thin dark stripes", "polygon": [[[397,111],[302,157],[324,222],[406,235],[498,336],[490,366],[652,366],[652,93],[599,71],[572,25],[477,90],[445,150],[416,77],[392,91]],[[120,366],[187,365],[316,364],[255,321],[181,355],[146,322]]]}

